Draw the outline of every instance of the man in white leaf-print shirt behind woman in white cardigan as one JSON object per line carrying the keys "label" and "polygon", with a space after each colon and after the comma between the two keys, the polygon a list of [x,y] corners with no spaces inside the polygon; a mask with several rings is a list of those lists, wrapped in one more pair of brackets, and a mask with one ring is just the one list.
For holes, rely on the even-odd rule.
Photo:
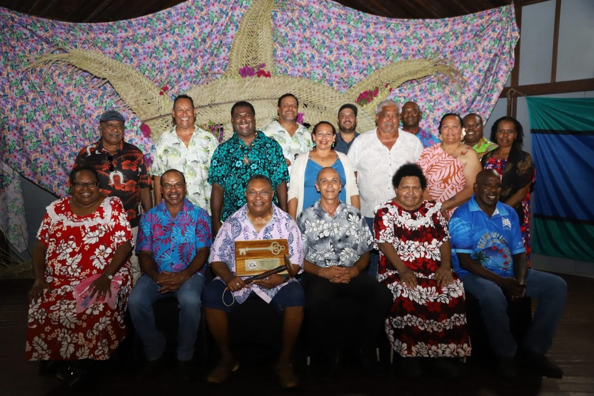
{"label": "man in white leaf-print shirt behind woman in white cardigan", "polygon": [[313,147],[311,134],[305,126],[297,123],[299,101],[292,93],[279,97],[277,112],[279,121],[274,121],[263,129],[264,134],[279,142],[291,173],[291,164],[301,153],[307,153]]}

